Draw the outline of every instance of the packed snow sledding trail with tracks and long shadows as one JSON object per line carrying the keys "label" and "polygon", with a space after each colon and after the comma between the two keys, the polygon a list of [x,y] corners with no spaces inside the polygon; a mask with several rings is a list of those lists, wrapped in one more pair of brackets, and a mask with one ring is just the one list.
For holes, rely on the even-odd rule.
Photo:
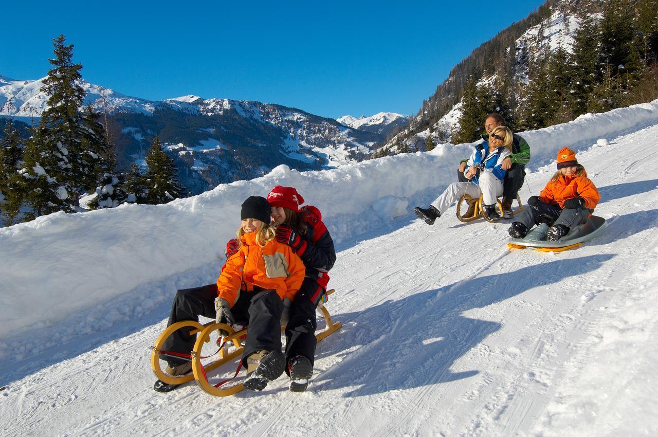
{"label": "packed snow sledding trail with tracks and long shadows", "polygon": [[[163,298],[140,320],[39,351],[22,364],[34,371],[7,368],[20,378],[0,392],[3,434],[655,435],[658,125],[609,140],[578,153],[609,221],[578,249],[507,251],[509,224],[463,224],[454,207],[434,226],[409,213],[340,244],[327,307],[343,328],[318,345],[306,393],[283,377],[230,398],[193,383],[153,392]],[[533,193],[554,169],[528,176]],[[152,285],[200,285],[218,267]]]}

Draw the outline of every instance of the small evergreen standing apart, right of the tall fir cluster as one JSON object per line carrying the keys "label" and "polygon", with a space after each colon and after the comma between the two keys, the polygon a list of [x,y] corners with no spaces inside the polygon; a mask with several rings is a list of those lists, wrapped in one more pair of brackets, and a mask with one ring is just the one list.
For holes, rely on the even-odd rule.
{"label": "small evergreen standing apart, right of the tall fir cluster", "polygon": [[146,203],[157,205],[183,197],[183,188],[176,180],[174,161],[164,153],[157,135],[147,151],[146,164],[149,166],[146,174],[148,190]]}

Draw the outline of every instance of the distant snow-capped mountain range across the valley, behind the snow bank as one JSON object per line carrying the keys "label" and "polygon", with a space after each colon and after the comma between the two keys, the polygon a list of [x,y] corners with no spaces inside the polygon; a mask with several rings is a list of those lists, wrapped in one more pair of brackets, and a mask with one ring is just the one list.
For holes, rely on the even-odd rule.
{"label": "distant snow-capped mountain range across the valley, behind the snow bank", "polygon": [[[0,76],[0,115],[38,117],[47,95],[39,80]],[[107,116],[118,163],[143,165],[157,134],[191,193],[218,184],[262,176],[285,164],[296,170],[320,170],[362,161],[404,116],[381,113],[361,128],[290,107],[185,95],[149,101],[82,82],[84,105]],[[389,124],[391,126],[389,126]]]}

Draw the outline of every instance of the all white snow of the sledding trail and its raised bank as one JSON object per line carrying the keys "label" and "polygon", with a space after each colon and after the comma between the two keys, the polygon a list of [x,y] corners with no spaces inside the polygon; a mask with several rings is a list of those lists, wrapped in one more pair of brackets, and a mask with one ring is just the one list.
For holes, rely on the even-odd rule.
{"label": "all white snow of the sledding trail and its raised bank", "polygon": [[[522,197],[569,145],[605,235],[509,252],[505,223],[417,220],[469,145],[0,229],[3,435],[656,435],[658,100],[522,136]],[[176,289],[214,282],[240,203],[276,184],[322,211],[338,249],[327,307],[343,328],[309,391],[153,392],[148,346]]]}

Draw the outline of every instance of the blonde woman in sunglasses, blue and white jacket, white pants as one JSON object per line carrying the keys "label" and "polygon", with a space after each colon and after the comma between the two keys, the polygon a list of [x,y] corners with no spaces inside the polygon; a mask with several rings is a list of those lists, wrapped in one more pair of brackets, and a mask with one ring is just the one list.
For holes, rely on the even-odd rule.
{"label": "blonde woman in sunglasses, blue and white jacket, white pants", "polygon": [[503,170],[501,165],[503,159],[512,154],[513,139],[512,131],[506,126],[494,128],[489,141],[476,145],[468,159],[464,176],[469,182],[453,182],[430,207],[416,207],[414,213],[427,224],[434,224],[434,220],[441,217],[462,195],[468,194],[477,198],[481,194],[484,213],[490,220],[500,220],[501,217],[495,210],[495,199],[503,195],[503,180],[507,170]]}

